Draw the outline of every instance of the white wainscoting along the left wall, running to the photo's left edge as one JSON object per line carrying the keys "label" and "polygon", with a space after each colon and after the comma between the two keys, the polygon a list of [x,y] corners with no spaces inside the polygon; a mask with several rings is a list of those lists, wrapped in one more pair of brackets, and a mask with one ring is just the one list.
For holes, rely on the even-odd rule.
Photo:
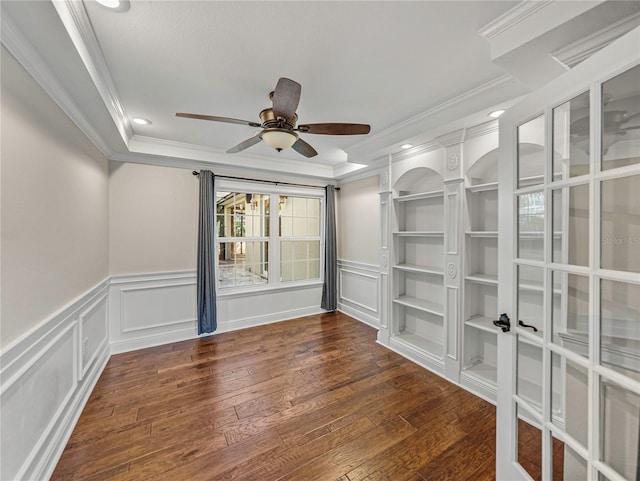
{"label": "white wainscoting along the left wall, running to the photo's left edge", "polygon": [[0,479],[51,476],[109,358],[107,293],[105,280],[0,353]]}

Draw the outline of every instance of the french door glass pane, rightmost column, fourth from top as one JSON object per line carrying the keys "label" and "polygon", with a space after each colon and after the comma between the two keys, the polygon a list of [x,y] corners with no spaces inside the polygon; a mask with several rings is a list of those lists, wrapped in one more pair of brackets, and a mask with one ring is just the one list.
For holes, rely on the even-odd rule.
{"label": "french door glass pane, rightmost column, fourth from top", "polygon": [[640,396],[603,380],[600,386],[600,460],[625,479],[638,474]]}

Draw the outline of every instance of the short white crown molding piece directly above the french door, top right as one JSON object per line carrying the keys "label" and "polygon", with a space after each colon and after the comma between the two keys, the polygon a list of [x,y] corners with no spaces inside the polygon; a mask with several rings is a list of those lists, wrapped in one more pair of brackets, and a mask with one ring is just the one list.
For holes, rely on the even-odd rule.
{"label": "short white crown molding piece directly above the french door, top right", "polygon": [[551,56],[568,68],[575,67],[638,25],[640,25],[640,13],[623,18],[587,37],[562,47],[552,52]]}

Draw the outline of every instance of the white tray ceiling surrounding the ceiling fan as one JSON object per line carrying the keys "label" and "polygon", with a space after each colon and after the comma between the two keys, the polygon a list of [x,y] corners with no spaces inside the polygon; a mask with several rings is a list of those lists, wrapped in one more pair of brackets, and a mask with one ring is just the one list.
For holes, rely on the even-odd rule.
{"label": "white tray ceiling surrounding the ceiling fan", "polygon": [[[28,40],[41,75],[63,86],[85,132],[93,129],[89,135],[113,159],[154,156],[338,178],[407,140],[430,140],[443,122],[488,120],[490,107],[526,93],[492,59],[495,45],[481,31],[514,7],[522,3],[131,0],[119,12],[92,0],[5,0],[3,43],[16,55],[15,38]],[[7,37],[7,25],[18,33]],[[545,48],[561,42],[568,43],[558,38]],[[258,121],[279,77],[302,84],[300,123],[369,123],[371,133],[303,134],[319,152],[312,159],[262,143],[226,154],[255,129],[175,117]],[[453,116],[443,116],[445,107]],[[152,125],[131,124],[137,116]]]}

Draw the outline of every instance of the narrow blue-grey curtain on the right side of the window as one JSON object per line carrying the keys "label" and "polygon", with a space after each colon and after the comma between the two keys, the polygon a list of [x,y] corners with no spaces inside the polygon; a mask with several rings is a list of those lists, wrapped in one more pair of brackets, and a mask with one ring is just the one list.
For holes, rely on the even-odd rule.
{"label": "narrow blue-grey curtain on the right side of the window", "polygon": [[324,285],[320,307],[327,311],[338,308],[338,252],[336,248],[336,188],[328,185],[326,192]]}

